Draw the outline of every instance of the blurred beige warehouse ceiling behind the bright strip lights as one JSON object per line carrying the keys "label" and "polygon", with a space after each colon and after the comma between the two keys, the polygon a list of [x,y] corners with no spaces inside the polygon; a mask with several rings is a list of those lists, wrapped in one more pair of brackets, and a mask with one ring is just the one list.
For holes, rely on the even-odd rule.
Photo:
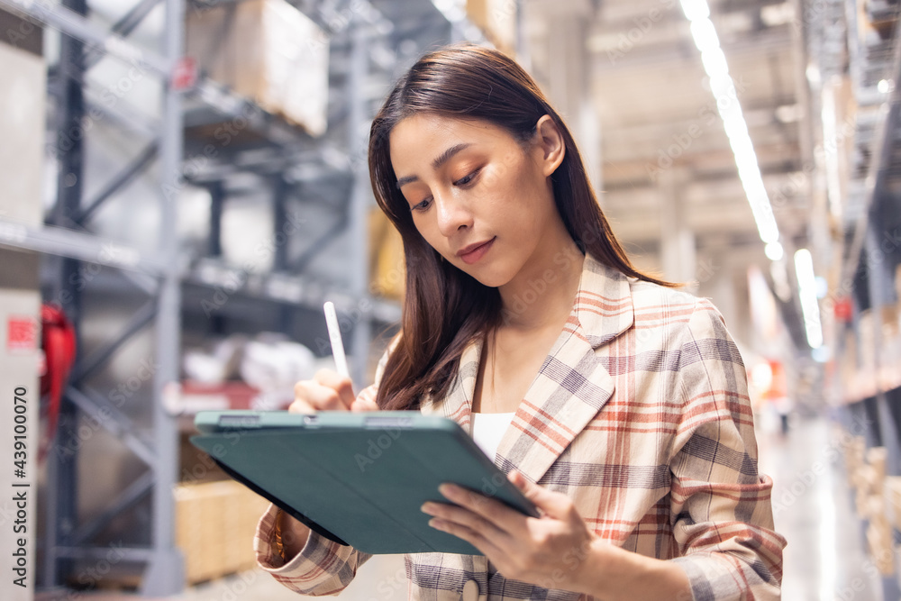
{"label": "blurred beige warehouse ceiling behind the bright strip lights", "polygon": [[[805,100],[798,82],[805,67],[793,5],[708,4],[780,232],[804,243],[810,186],[801,175]],[[549,46],[560,43],[551,33],[560,31],[554,20],[587,23],[581,25],[584,70],[600,124],[602,204],[616,232],[638,248],[659,252],[661,228],[670,226],[661,223],[661,203],[675,195],[684,204],[699,253],[742,247],[747,261],[764,263],[716,99],[679,3],[586,0],[568,3],[570,14],[562,16],[559,5],[548,0],[526,5],[532,69],[547,79],[556,68],[548,61]]]}

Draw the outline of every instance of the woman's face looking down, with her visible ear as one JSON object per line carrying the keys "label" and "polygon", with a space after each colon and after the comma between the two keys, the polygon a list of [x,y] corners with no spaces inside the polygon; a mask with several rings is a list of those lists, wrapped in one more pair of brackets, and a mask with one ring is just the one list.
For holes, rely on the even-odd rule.
{"label": "woman's face looking down, with her visible ear", "polygon": [[565,232],[549,177],[563,159],[559,133],[544,116],[523,149],[484,121],[415,114],[397,123],[391,164],[416,229],[482,284],[510,282]]}

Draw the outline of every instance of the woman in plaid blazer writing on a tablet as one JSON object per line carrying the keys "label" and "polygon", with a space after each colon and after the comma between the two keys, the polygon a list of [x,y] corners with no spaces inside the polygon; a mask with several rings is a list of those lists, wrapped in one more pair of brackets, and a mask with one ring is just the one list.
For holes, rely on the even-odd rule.
{"label": "woman in plaid blazer writing on a tablet", "polygon": [[[292,411],[454,419],[542,510],[441,487],[433,527],[484,556],[408,555],[420,599],[770,599],[782,548],[742,359],[705,299],[633,269],[576,145],[532,79],[457,45],[407,72],[369,172],[404,240],[401,333],[354,397],[330,371]],[[260,565],[339,592],[365,553],[270,509]]]}

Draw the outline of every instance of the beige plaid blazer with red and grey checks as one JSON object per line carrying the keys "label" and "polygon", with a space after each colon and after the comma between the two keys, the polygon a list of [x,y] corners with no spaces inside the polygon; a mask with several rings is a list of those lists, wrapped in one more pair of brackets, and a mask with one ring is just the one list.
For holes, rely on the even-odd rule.
{"label": "beige plaid blazer with red and grey checks", "polygon": [[[469,345],[451,392],[423,413],[469,430],[480,352]],[[374,393],[386,358],[361,394]],[[587,256],[569,320],[495,462],[568,495],[605,541],[677,562],[696,601],[780,597],[786,541],[773,530],[772,480],[757,470],[747,374],[706,299]],[[313,533],[281,566],[274,514],[259,522],[259,565],[298,593],[336,594],[369,559]],[[580,597],[505,578],[482,556],[418,553],[405,565],[411,599]]]}

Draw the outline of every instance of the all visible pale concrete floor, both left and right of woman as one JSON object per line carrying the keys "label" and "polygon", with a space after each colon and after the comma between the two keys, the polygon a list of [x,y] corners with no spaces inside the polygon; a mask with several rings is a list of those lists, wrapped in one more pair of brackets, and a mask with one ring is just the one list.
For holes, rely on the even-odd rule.
{"label": "all visible pale concrete floor, both left and right of woman", "polygon": [[[767,419],[759,420],[760,470],[775,481],[777,530],[788,539],[783,598],[787,601],[894,601],[865,552],[860,520],[842,460],[830,462],[838,445],[824,418],[796,420],[783,437]],[[819,461],[825,469],[815,469]],[[814,473],[818,472],[818,473]],[[82,598],[135,599],[96,593]],[[184,601],[288,601],[297,596],[268,574],[251,570],[191,587]],[[345,601],[394,601],[406,598],[402,556],[375,557],[365,564],[339,598]]]}

